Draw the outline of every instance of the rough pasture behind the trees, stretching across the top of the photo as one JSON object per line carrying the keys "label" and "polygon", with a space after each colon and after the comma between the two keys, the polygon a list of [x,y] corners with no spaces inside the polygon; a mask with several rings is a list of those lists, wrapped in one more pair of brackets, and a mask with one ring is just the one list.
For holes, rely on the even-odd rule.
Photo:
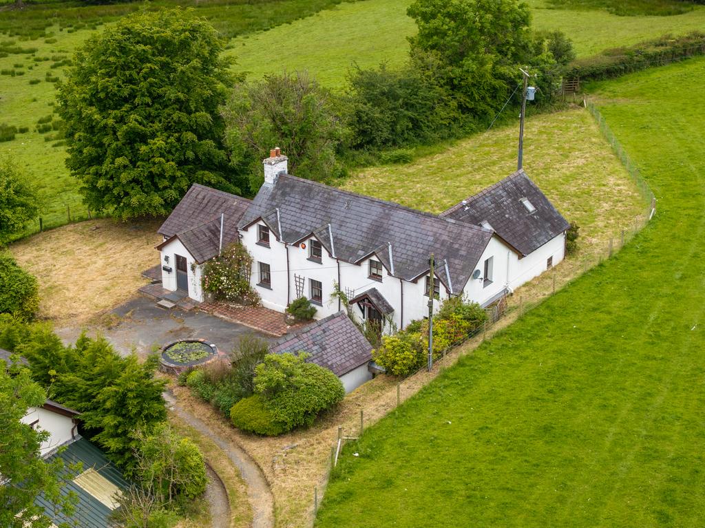
{"label": "rough pasture behind the trees, stretching across the top of the photo", "polygon": [[[386,62],[402,63],[407,54],[407,36],[415,30],[405,14],[411,0],[361,0],[339,4],[339,0],[272,0],[250,3],[241,0],[159,0],[152,8],[185,5],[211,20],[231,40],[226,53],[237,63],[235,70],[252,77],[283,70],[308,69],[324,85],[341,88],[353,62],[362,67]],[[339,4],[339,5],[338,5]],[[23,167],[27,178],[42,190],[42,217],[56,226],[71,217],[85,218],[87,210],[78,194],[77,183],[64,166],[65,147],[50,140],[54,132],[35,130],[39,118],[53,110],[54,83],[61,78],[61,58],[71,56],[100,23],[140,8],[141,3],[79,7],[71,2],[30,5],[24,11],[0,11],[0,31],[27,36],[0,37],[2,44],[32,48],[31,53],[0,54],[0,124],[27,127],[9,142],[0,142],[0,156],[11,156]],[[664,33],[683,33],[705,26],[705,7],[678,16],[615,16],[603,9],[552,9],[544,0],[529,0],[534,25],[560,29],[573,39],[582,56],[606,47],[635,44]],[[312,16],[312,13],[316,13]],[[276,27],[273,27],[276,26]],[[271,28],[273,27],[273,28]],[[258,31],[263,28],[266,31]],[[39,33],[37,33],[39,32]],[[49,60],[41,60],[49,59]],[[56,60],[52,60],[56,59]],[[30,69],[30,67],[32,69]],[[32,82],[33,84],[30,84]],[[56,145],[56,146],[54,146]],[[30,226],[38,228],[38,222]]]}

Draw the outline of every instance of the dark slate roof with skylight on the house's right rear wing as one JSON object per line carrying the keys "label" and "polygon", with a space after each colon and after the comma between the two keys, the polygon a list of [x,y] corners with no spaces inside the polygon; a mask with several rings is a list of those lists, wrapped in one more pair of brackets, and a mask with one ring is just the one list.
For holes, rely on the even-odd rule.
{"label": "dark slate roof with skylight on the house's right rear wing", "polygon": [[[522,198],[529,199],[536,210],[529,212]],[[443,211],[441,216],[473,225],[486,221],[500,238],[524,256],[570,227],[523,170],[465,202]]]}

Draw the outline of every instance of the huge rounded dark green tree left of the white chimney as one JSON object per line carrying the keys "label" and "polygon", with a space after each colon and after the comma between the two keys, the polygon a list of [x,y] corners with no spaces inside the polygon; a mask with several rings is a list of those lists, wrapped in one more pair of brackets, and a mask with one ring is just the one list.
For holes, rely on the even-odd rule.
{"label": "huge rounded dark green tree left of the white chimney", "polygon": [[194,182],[238,192],[221,145],[231,82],[221,51],[212,25],[175,9],[122,18],[76,52],[59,113],[89,207],[161,215]]}

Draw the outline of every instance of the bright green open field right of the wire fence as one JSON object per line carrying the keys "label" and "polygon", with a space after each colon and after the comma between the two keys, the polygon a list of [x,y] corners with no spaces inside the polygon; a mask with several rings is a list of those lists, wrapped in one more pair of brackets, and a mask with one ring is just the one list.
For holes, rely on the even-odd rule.
{"label": "bright green open field right of the wire fence", "polygon": [[351,443],[317,527],[705,524],[704,77],[595,87],[654,221]]}

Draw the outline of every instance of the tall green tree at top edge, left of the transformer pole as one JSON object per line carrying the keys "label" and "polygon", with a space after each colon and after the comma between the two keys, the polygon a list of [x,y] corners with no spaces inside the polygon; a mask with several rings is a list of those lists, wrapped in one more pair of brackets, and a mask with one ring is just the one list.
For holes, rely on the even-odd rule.
{"label": "tall green tree at top edge, left of the transformer pole", "polygon": [[460,108],[482,115],[501,106],[516,84],[517,66],[532,63],[527,4],[517,0],[416,0],[407,13],[419,31],[412,61],[433,69]]}

